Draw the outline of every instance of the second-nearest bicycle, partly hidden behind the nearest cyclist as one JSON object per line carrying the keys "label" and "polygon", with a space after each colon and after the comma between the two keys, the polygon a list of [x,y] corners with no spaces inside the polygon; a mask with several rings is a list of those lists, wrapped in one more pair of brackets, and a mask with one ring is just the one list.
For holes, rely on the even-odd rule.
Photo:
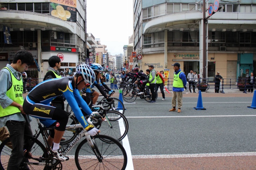
{"label": "second-nearest bicycle, partly hidden behind the nearest cyclist", "polygon": [[[112,100],[111,102],[114,101]],[[128,120],[122,113],[116,110],[105,109],[103,103],[111,104],[111,102],[99,101],[99,105],[92,106],[93,112],[98,112],[103,118],[105,118],[105,121],[97,122],[97,120],[95,120],[93,124],[96,128],[101,130],[101,134],[111,136],[117,141],[121,141],[128,133]],[[74,112],[70,106],[67,106],[67,112],[69,113],[68,125],[78,124],[79,121],[75,118]],[[64,149],[68,146],[67,144],[75,139],[76,135],[79,134],[81,130],[81,128],[69,128],[65,130],[63,134],[65,140],[60,142]],[[45,133],[48,137],[48,132],[46,131]],[[63,148],[62,150],[64,150]]]}

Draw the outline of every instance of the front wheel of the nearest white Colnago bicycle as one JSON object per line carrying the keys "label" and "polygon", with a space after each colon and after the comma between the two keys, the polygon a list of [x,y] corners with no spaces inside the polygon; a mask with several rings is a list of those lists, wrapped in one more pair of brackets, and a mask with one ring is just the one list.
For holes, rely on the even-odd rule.
{"label": "front wheel of the nearest white Colnago bicycle", "polygon": [[[75,151],[75,164],[79,170],[82,169],[121,169],[127,166],[127,154],[122,144],[110,136],[95,135],[92,137],[94,148],[90,146],[87,139],[81,141]],[[106,143],[104,140],[110,140],[112,143]],[[100,156],[98,160],[95,153]]]}

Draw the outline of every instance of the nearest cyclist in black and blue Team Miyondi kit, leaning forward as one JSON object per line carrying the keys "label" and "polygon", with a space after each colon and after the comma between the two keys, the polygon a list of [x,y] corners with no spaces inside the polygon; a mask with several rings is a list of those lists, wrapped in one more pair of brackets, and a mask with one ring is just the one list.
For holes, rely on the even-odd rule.
{"label": "nearest cyclist in black and blue Team Miyondi kit, leaning forward", "polygon": [[39,118],[46,127],[55,126],[54,131],[50,133],[50,136],[54,138],[52,151],[54,156],[60,161],[67,161],[69,159],[62,154],[59,148],[61,137],[65,132],[68,122],[68,113],[60,108],[50,106],[49,103],[63,94],[83,128],[89,135],[96,135],[99,130],[87,123],[79,108],[81,106],[88,115],[92,113],[86,102],[81,98],[79,90],[92,84],[94,80],[95,74],[90,66],[81,64],[76,67],[74,77],[62,77],[43,81],[28,93],[24,101],[23,108],[26,113]]}

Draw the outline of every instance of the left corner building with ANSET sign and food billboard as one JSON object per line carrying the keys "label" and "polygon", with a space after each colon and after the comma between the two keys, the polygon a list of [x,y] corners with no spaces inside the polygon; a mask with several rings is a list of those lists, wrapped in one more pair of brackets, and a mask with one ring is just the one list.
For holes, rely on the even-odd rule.
{"label": "left corner building with ANSET sign and food billboard", "polygon": [[[61,70],[69,68],[72,76],[76,65],[86,62],[94,37],[86,34],[85,0],[15,0],[1,1],[0,10],[0,68],[3,68],[16,51],[30,51],[38,66],[30,66],[27,75],[43,78],[48,59],[57,55]],[[9,33],[12,43],[6,41]],[[88,40],[88,44],[87,44]]]}

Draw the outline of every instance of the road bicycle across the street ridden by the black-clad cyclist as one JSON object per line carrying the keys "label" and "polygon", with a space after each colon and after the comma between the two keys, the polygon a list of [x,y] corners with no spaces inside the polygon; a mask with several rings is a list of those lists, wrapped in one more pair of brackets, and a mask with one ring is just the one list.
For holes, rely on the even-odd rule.
{"label": "road bicycle across the street ridden by the black-clad cyclist", "polygon": [[[143,88],[143,94],[138,94],[139,89],[135,85],[131,85],[123,88],[123,91],[122,91],[123,100],[126,102],[134,102],[137,96],[139,96],[141,99],[145,99],[147,102],[150,102],[152,100],[152,94],[150,89],[147,89],[146,87],[142,87],[142,88]],[[158,97],[158,94],[156,90],[154,91],[155,91],[155,100],[156,100]]]}

